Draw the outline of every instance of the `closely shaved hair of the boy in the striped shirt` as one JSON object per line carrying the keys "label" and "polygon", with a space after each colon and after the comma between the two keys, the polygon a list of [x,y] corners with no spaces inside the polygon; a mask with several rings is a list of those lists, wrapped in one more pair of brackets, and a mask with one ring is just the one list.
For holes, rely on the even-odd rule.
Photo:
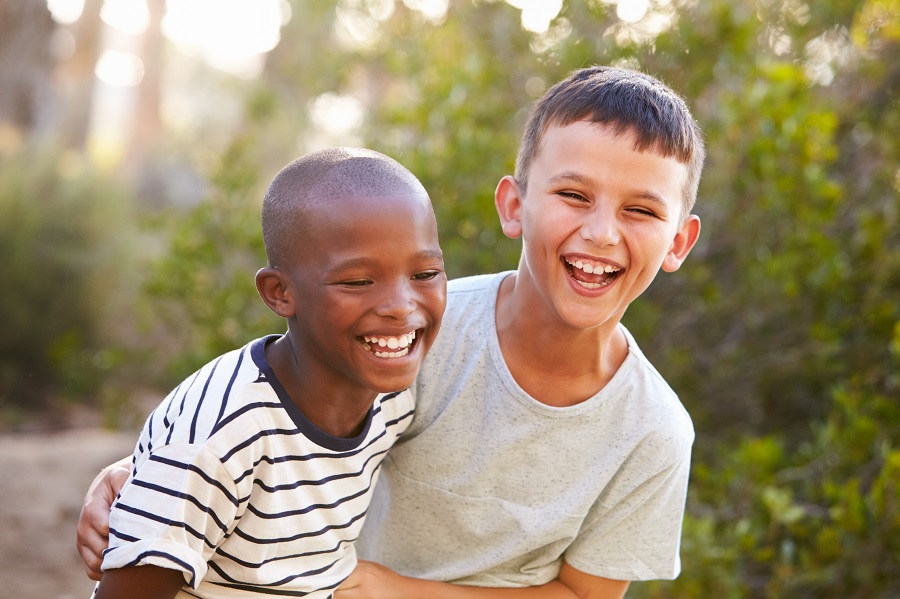
{"label": "closely shaved hair of the boy in the striped shirt", "polygon": [[263,197],[263,242],[269,266],[289,263],[289,252],[296,247],[293,242],[315,225],[311,207],[343,197],[396,194],[428,198],[415,175],[380,152],[341,147],[301,156],[275,175]]}

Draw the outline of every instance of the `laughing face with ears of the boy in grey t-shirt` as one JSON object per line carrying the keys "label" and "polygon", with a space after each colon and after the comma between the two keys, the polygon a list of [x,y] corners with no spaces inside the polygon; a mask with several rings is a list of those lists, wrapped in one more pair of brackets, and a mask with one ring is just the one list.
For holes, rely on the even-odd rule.
{"label": "laughing face with ears of the boy in grey t-shirt", "polygon": [[525,194],[510,177],[497,188],[504,232],[523,239],[517,289],[545,321],[614,326],[697,240],[699,219],[682,217],[687,167],[634,142],[586,121],[550,127]]}

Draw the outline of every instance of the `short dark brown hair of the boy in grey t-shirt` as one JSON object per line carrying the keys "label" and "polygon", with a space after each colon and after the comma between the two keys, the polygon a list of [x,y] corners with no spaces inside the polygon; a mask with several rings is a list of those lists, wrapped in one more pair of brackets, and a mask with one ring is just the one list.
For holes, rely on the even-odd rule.
{"label": "short dark brown hair of the boy in grey t-shirt", "polygon": [[544,133],[549,127],[577,121],[607,126],[616,134],[633,131],[637,151],[655,151],[687,165],[682,219],[687,218],[706,158],[700,126],[678,94],[659,80],[630,69],[579,69],[538,100],[525,124],[516,157],[515,178],[523,194]]}

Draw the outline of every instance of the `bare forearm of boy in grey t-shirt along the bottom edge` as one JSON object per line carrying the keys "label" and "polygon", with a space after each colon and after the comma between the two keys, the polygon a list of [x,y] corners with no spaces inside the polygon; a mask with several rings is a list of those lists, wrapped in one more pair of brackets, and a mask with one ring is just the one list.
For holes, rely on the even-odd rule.
{"label": "bare forearm of boy in grey t-shirt along the bottom edge", "polygon": [[563,562],[547,584],[495,589],[401,576],[380,564],[360,561],[338,588],[335,599],[622,599],[629,581],[585,574]]}

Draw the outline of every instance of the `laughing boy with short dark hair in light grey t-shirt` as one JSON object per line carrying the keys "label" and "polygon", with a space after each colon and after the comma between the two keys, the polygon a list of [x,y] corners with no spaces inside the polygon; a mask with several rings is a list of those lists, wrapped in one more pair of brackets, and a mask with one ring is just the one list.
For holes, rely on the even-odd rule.
{"label": "laughing boy with short dark hair in light grey t-shirt", "polygon": [[646,75],[582,69],[537,102],[495,196],[518,269],[448,286],[363,527],[377,563],[338,599],[621,597],[678,575],[693,427],[620,321],[696,243],[703,160]]}

